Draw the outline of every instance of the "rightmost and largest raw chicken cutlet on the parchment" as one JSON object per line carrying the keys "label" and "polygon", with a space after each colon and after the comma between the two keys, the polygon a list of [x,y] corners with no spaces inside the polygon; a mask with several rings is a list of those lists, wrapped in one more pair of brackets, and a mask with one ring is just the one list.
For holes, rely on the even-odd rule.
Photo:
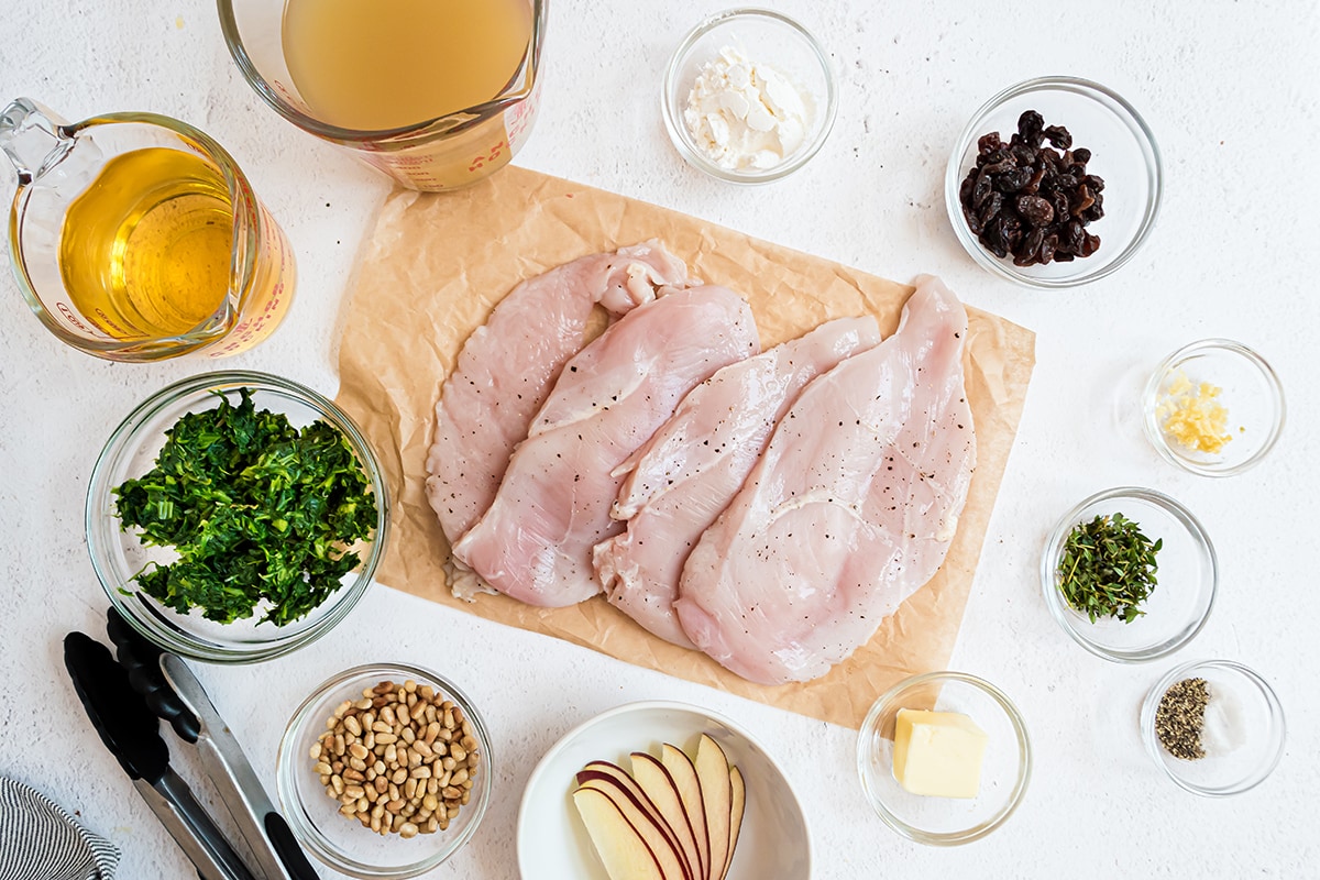
{"label": "rightmost and largest raw chicken cutlet on the parchment", "polygon": [[944,562],[975,466],[968,318],[923,278],[895,335],[809,384],[688,557],[675,604],[730,670],[810,681]]}

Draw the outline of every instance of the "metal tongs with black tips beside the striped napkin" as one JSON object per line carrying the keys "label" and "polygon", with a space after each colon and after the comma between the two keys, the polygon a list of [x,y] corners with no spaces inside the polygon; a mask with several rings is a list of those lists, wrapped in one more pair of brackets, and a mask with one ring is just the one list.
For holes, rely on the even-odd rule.
{"label": "metal tongs with black tips beside the striped napkin", "polygon": [[[99,641],[71,632],[65,637],[65,666],[106,747],[202,879],[317,880],[234,734],[182,658],[148,643],[114,608],[106,629],[117,662]],[[251,851],[251,864],[170,769],[158,719],[168,720],[180,739],[197,748]]]}

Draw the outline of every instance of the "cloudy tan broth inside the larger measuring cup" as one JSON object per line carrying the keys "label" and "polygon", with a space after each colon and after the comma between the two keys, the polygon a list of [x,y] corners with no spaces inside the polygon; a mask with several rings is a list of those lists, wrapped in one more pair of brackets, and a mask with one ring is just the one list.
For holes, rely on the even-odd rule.
{"label": "cloudy tan broth inside the larger measuring cup", "polygon": [[281,34],[312,115],[359,131],[496,98],[531,40],[531,0],[288,0]]}

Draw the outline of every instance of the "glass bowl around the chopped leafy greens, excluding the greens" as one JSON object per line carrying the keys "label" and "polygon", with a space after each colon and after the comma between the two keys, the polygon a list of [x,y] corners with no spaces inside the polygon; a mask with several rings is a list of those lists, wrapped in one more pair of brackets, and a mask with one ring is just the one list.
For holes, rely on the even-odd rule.
{"label": "glass bowl around the chopped leafy greens, excluding the greens", "polygon": [[[317,420],[334,425],[347,438],[376,499],[376,528],[372,538],[355,550],[362,565],[345,575],[343,586],[301,620],[277,627],[257,623],[261,608],[247,620],[219,623],[206,620],[199,610],[180,613],[135,588],[133,578],[149,561],[169,562],[166,548],[141,544],[136,530],[120,529],[112,489],[124,480],[152,470],[165,431],[182,416],[214,409],[219,394],[231,402],[240,388],[252,389],[257,410],[284,413],[294,427]],[[385,549],[389,532],[389,499],[384,476],[366,438],[347,414],[310,388],[288,379],[257,372],[211,372],[174,383],[152,394],[128,414],[111,434],[96,459],[87,487],[87,550],[110,603],[133,629],[162,649],[205,662],[247,664],[289,653],[329,632],[347,616],[371,583],[372,573]],[[120,592],[121,590],[128,591]]]}

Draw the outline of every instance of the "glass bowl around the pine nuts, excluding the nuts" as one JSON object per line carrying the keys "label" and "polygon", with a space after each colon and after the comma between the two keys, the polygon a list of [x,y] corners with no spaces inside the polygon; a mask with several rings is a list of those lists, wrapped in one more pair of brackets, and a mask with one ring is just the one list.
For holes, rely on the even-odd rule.
{"label": "glass bowl around the pine nuts, excluding the nuts", "polygon": [[[397,834],[376,834],[356,819],[339,814],[339,801],[326,793],[313,768],[310,749],[326,731],[326,722],[335,708],[345,701],[360,699],[363,691],[383,681],[395,685],[404,685],[407,681],[418,686],[430,685],[453,701],[471,722],[482,753],[471,800],[459,807],[458,817],[444,831],[418,834],[409,839]],[[486,723],[457,686],[442,676],[417,666],[368,664],[339,673],[302,701],[280,740],[275,773],[284,817],[305,850],[350,877],[401,880],[438,867],[477,834],[491,800],[492,767]]]}

